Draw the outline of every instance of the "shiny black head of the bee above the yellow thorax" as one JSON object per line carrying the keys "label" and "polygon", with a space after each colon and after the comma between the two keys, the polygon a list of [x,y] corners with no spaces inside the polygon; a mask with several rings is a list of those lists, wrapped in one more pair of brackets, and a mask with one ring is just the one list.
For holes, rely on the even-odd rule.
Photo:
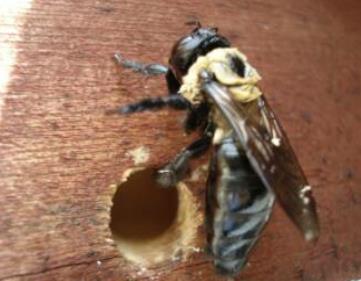
{"label": "shiny black head of the bee above the yellow thorax", "polygon": [[229,47],[229,41],[216,28],[197,27],[173,46],[169,64],[179,82],[199,56],[216,48]]}

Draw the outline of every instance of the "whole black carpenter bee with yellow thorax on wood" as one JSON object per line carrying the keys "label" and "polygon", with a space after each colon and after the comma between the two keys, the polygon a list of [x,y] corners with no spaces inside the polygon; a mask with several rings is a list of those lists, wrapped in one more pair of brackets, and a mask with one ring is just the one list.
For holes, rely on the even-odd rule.
{"label": "whole black carpenter bee with yellow thorax on wood", "polygon": [[163,187],[186,176],[189,161],[212,146],[206,189],[208,248],[215,267],[237,274],[267,223],[274,198],[302,232],[316,240],[319,223],[311,187],[277,117],[258,87],[247,57],[216,28],[200,24],[178,40],[169,67],[115,55],[119,65],[151,76],[164,74],[168,96],[113,110],[130,114],[169,106],[186,110],[186,132],[200,138],[158,170]]}

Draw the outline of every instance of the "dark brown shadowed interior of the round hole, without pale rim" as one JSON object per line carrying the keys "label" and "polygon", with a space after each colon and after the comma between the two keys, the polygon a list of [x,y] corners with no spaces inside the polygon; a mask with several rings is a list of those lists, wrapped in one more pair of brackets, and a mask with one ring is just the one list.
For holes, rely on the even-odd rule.
{"label": "dark brown shadowed interior of the round hole, without pale rim", "polygon": [[154,169],[134,172],[118,186],[110,222],[116,238],[152,239],[173,224],[178,210],[178,191],[159,187],[154,172]]}

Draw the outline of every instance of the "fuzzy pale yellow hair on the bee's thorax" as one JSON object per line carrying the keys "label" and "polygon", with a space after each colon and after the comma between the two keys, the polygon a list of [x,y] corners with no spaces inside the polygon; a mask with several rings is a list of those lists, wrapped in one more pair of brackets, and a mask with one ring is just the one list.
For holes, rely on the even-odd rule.
{"label": "fuzzy pale yellow hair on the bee's thorax", "polygon": [[[239,76],[231,68],[231,57],[238,57],[245,65],[244,77]],[[250,102],[262,95],[257,87],[261,76],[247,61],[247,57],[236,48],[218,48],[205,56],[201,56],[189,68],[183,77],[183,84],[179,90],[192,104],[199,104],[204,97],[201,94],[200,72],[207,70],[215,76],[218,82],[226,86],[233,98],[239,102]]]}

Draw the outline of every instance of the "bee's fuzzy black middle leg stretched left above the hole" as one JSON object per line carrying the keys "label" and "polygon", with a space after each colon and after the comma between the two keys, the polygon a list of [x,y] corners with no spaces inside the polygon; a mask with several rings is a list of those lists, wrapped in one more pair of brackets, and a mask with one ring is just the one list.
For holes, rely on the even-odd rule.
{"label": "bee's fuzzy black middle leg stretched left above the hole", "polygon": [[124,105],[117,109],[109,110],[107,111],[107,114],[131,114],[147,110],[157,110],[165,106],[177,110],[185,110],[189,108],[189,102],[180,95],[148,98],[136,103]]}

